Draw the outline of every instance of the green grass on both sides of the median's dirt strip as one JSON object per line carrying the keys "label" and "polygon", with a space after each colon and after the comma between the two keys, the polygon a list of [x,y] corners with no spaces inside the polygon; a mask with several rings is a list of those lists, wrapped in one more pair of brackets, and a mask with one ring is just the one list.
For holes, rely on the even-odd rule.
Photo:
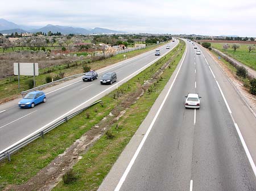
{"label": "green grass on both sides of the median's dirt strip", "polygon": [[[40,138],[22,148],[11,156],[11,162],[1,162],[0,188],[19,188],[17,186],[24,184],[31,177],[35,176],[40,169],[46,167],[56,156],[62,154],[66,148],[102,121],[105,116],[109,116],[109,113],[113,112],[114,108],[119,107],[121,103],[125,103],[126,95],[136,94],[138,87],[142,86],[145,80],[151,79],[152,75],[164,63],[172,59],[169,67],[164,70],[160,79],[156,83],[151,84],[143,96],[127,108],[126,113],[119,118],[118,122],[110,123],[110,129],[107,130],[108,133],[102,135],[82,155],[82,159],[73,167],[77,180],[68,185],[60,182],[55,188],[55,190],[96,190],[146,117],[148,111],[150,111],[155,99],[168,82],[177,63],[179,63],[184,49],[185,44],[181,41],[171,53],[142,71],[136,77],[129,80],[129,82],[122,84],[118,90],[104,96],[101,99],[102,105],[94,105],[92,108],[46,134],[44,139]],[[122,94],[121,97],[118,96],[120,94]]]}

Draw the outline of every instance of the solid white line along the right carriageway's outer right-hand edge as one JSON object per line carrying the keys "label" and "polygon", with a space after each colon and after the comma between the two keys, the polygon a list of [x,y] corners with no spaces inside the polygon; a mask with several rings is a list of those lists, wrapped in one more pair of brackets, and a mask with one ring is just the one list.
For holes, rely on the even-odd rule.
{"label": "solid white line along the right carriageway's outer right-hand edge", "polygon": [[[205,61],[207,61],[207,60],[205,59]],[[207,64],[209,65],[208,62],[207,62]],[[209,66],[209,68],[210,68],[210,66]],[[212,69],[210,69],[210,70],[212,71]],[[212,74],[213,74],[213,72],[212,72]],[[213,77],[214,77],[214,74],[213,74]],[[231,109],[229,108],[228,102],[226,101],[226,98],[225,98],[225,96],[224,96],[224,94],[223,94],[223,92],[222,92],[222,90],[221,90],[220,84],[218,84],[218,82],[217,82],[217,80],[216,80],[215,77],[214,77],[214,79],[215,79],[215,81],[216,81],[216,83],[217,83],[218,89],[219,89],[220,92],[221,92],[222,98],[223,98],[224,101],[225,101],[226,107],[228,108],[228,111],[229,111],[229,113],[230,113],[230,116],[231,116],[231,118],[232,118],[232,121],[233,121],[233,123],[234,123],[234,126],[235,126],[235,128],[236,128],[236,130],[237,130],[238,137],[240,138],[240,141],[241,141],[241,143],[242,143],[243,149],[245,150],[245,154],[246,154],[246,156],[247,156],[247,159],[249,160],[249,163],[250,163],[250,165],[251,165],[251,168],[253,169],[254,176],[256,177],[256,166],[255,166],[255,163],[254,163],[254,161],[253,161],[253,158],[251,157],[250,151],[249,151],[249,149],[248,149],[248,147],[247,147],[247,145],[246,145],[246,143],[245,143],[245,140],[243,139],[243,136],[242,136],[242,133],[241,133],[241,131],[240,131],[240,129],[239,129],[239,126],[237,125],[236,121],[234,120],[234,117],[233,117],[233,115],[232,115],[232,111],[231,111]]]}

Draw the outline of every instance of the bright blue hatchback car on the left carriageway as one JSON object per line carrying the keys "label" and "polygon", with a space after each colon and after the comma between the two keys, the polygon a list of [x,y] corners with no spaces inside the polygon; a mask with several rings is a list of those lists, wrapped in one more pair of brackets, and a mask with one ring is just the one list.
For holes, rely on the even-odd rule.
{"label": "bright blue hatchback car on the left carriageway", "polygon": [[19,101],[20,108],[34,108],[36,104],[46,103],[46,95],[42,91],[29,92]]}

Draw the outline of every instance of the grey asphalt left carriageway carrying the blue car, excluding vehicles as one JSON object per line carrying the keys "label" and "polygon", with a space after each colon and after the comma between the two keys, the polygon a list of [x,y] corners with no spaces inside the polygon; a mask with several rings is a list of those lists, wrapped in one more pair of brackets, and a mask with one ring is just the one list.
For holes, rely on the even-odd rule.
{"label": "grey asphalt left carriageway carrying the blue car, excluding vehicles", "polygon": [[[178,44],[178,40],[169,44],[172,49]],[[171,49],[166,49],[166,45],[161,46],[160,57]],[[151,50],[98,70],[99,77],[106,71],[117,73],[117,82],[110,86],[101,85],[99,78],[93,82],[82,82],[80,77],[59,86],[47,88],[44,91],[47,102],[36,105],[35,108],[20,109],[18,100],[15,103],[13,101],[0,105],[0,152],[35,131],[40,131],[60,118],[86,107],[125,83],[160,58],[155,56],[154,52],[155,50]]]}

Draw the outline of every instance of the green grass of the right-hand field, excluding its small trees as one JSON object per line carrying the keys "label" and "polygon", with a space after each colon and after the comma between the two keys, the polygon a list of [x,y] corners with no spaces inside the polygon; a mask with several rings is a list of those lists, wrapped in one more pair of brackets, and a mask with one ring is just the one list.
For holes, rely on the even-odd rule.
{"label": "green grass of the right-hand field, excluding its small trees", "polygon": [[[229,44],[229,49],[224,50],[223,45],[226,43],[211,43],[213,48],[220,50],[221,52],[227,54],[230,57],[242,62],[246,66],[249,66],[251,69],[256,70],[256,50],[251,50],[249,53],[248,46],[249,44],[240,44],[240,48],[234,52],[232,49],[232,43]],[[256,48],[256,45],[255,45]]]}

